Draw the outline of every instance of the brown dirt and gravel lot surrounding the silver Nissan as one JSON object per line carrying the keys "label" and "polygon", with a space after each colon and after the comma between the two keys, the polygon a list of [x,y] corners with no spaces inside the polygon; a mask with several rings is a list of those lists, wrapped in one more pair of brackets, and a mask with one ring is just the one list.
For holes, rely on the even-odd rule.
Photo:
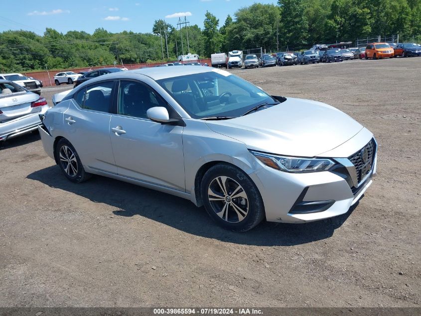
{"label": "brown dirt and gravel lot surrounding the silver Nissan", "polygon": [[232,70],[377,137],[379,176],[329,221],[235,234],[181,198],[70,183],[37,134],[0,145],[0,306],[419,306],[420,70],[421,58]]}

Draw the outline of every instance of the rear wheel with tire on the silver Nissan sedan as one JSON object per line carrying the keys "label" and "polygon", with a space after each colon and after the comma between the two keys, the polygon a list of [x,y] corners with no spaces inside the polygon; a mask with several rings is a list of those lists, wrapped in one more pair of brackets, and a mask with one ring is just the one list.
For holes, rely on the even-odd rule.
{"label": "rear wheel with tire on the silver Nissan sedan", "polygon": [[67,179],[75,183],[81,183],[91,177],[91,174],[83,168],[76,149],[67,139],[62,138],[58,141],[55,152],[58,165]]}

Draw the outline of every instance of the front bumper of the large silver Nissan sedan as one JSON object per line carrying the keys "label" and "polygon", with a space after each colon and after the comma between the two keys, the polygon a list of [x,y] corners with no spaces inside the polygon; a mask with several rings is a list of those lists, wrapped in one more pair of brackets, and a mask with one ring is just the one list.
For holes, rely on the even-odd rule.
{"label": "front bumper of the large silver Nissan sedan", "polygon": [[[357,146],[360,148],[352,148],[348,144],[349,152],[357,152],[369,141],[370,138],[364,145]],[[347,146],[346,143],[344,145]],[[267,221],[312,222],[348,212],[372,184],[372,177],[377,174],[376,154],[377,151],[373,154],[369,173],[358,187],[352,187],[346,175],[331,171],[287,173],[265,166],[250,174],[250,177],[262,195]]]}

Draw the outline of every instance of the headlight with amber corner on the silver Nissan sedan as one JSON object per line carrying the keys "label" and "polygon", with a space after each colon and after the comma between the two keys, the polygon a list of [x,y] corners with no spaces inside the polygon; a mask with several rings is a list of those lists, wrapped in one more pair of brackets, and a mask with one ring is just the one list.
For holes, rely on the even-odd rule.
{"label": "headlight with amber corner on the silver Nissan sedan", "polygon": [[257,159],[268,167],[285,172],[317,172],[327,171],[335,163],[325,158],[285,157],[250,151]]}

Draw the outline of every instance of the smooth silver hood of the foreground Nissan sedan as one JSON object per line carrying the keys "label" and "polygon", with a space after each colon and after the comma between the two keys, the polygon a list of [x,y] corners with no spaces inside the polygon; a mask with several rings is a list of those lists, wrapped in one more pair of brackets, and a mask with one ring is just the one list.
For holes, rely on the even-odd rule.
{"label": "smooth silver hood of the foreground Nissan sedan", "polygon": [[245,143],[249,149],[300,157],[315,157],[332,150],[363,128],[330,105],[296,98],[245,116],[206,124],[216,133]]}

